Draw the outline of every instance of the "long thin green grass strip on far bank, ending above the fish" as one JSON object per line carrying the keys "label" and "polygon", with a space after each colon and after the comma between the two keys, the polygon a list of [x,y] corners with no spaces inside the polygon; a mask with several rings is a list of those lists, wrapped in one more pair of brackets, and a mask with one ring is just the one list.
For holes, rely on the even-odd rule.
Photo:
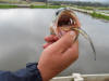
{"label": "long thin green grass strip on far bank, ending above the fish", "polygon": [[59,9],[65,8],[65,5],[31,5],[31,9]]}

